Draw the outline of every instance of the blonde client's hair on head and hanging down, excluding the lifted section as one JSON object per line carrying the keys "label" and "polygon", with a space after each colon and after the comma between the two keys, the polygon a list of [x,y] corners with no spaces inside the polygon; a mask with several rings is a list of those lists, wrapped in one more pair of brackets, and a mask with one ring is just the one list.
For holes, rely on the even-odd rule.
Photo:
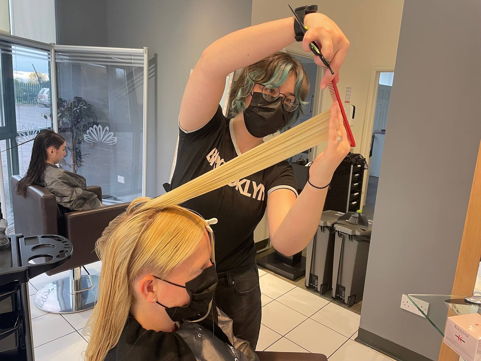
{"label": "blonde client's hair on head and hanging down, excluding the lifted section", "polygon": [[179,206],[136,211],[138,198],[102,233],[96,251],[102,260],[99,300],[87,323],[89,361],[103,361],[125,326],[134,303],[133,281],[145,272],[164,278],[203,239],[207,222]]}

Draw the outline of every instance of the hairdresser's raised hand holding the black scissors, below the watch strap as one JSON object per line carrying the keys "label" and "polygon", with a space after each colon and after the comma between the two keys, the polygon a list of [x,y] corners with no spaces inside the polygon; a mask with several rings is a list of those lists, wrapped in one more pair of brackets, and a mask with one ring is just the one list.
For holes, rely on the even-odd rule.
{"label": "hairdresser's raised hand holding the black scissors, below the watch strap", "polygon": [[[324,14],[306,14],[304,25],[308,28],[302,42],[304,51],[311,52],[309,44],[316,42],[322,51],[322,55],[324,55],[324,58],[330,63],[330,67],[334,71],[334,75],[326,72],[326,75],[322,78],[321,89],[325,89],[332,79],[335,79],[336,83],[339,81],[339,69],[349,49],[349,40],[339,26]],[[319,66],[325,65],[319,56],[314,57],[314,62]]]}

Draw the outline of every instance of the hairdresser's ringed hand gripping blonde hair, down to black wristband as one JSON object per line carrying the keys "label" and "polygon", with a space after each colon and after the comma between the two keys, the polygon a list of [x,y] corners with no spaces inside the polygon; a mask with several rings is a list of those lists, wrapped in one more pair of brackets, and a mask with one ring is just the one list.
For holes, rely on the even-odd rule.
{"label": "hairdresser's ringed hand gripping blonde hair, down to black wristband", "polygon": [[[338,137],[342,138],[341,142],[339,142]],[[350,150],[351,146],[347,140],[341,108],[337,102],[332,103],[329,119],[328,147],[314,160],[309,169],[309,181],[317,187],[324,187],[326,184],[329,184],[334,171]]]}

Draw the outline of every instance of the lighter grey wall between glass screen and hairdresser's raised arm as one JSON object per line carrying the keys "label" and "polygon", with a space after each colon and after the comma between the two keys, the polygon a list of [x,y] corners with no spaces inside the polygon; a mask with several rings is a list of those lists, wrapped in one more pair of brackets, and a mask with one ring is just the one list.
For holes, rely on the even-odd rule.
{"label": "lighter grey wall between glass screen and hairdresser's raised arm", "polygon": [[[252,0],[150,1],[107,0],[107,45],[150,48],[158,54],[156,129],[149,132],[148,158],[157,172],[149,175],[157,193],[169,179],[178,133],[182,94],[203,50],[222,36],[251,25]],[[151,87],[151,95],[153,87]],[[208,94],[199,94],[199,96]],[[152,125],[154,99],[150,97]],[[156,158],[156,159],[155,159]],[[149,161],[149,163],[151,163]],[[150,165],[150,167],[153,167]],[[149,172],[151,174],[151,172]],[[154,194],[149,194],[154,195]]]}

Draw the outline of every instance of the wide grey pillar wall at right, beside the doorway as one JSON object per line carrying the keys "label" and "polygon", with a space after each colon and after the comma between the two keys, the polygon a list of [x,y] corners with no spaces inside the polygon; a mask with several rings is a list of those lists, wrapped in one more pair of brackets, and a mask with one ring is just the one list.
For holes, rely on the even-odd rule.
{"label": "wide grey pillar wall at right, beside the doorway", "polygon": [[380,170],[360,327],[432,360],[441,336],[399,306],[451,292],[481,137],[480,18],[479,1],[405,1]]}

